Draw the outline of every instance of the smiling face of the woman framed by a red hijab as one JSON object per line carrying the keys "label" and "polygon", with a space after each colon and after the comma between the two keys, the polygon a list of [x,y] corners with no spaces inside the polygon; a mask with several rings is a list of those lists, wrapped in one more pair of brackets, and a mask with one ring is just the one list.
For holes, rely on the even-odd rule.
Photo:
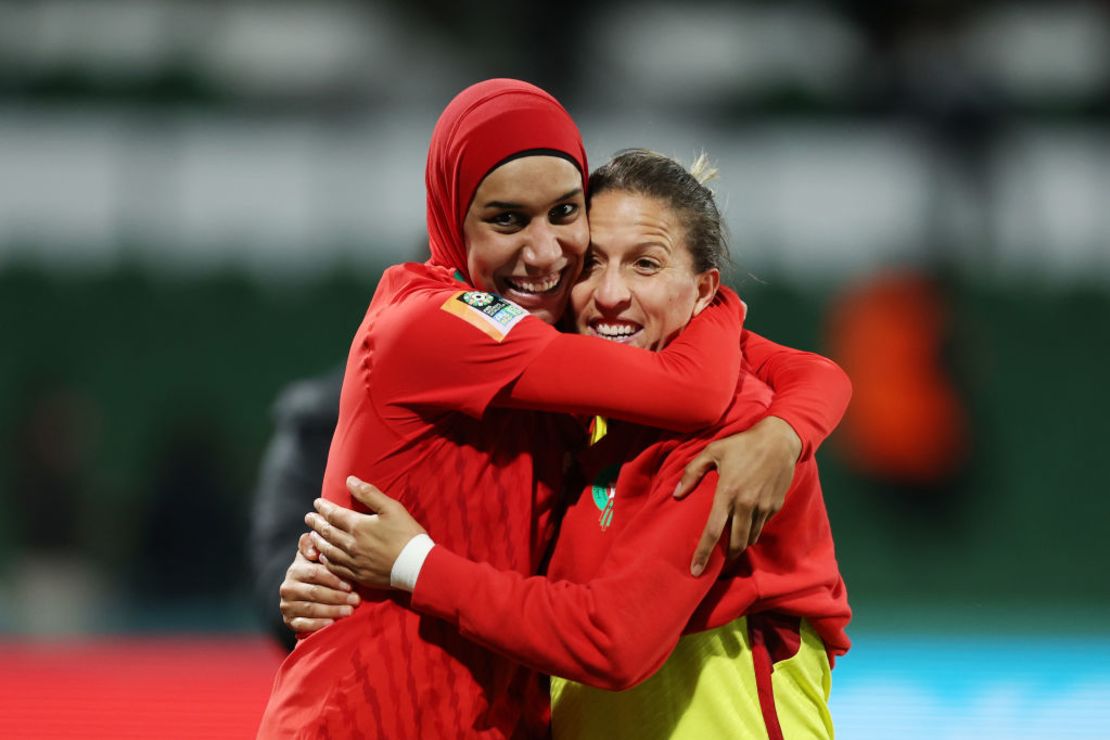
{"label": "smiling face of the woman framed by a red hijab", "polygon": [[589,242],[577,168],[558,156],[522,156],[478,185],[463,220],[474,286],[554,324]]}

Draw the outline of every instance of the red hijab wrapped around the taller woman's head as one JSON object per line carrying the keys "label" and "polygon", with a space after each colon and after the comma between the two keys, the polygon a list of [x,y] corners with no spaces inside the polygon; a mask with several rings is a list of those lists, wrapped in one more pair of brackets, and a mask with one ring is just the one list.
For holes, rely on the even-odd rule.
{"label": "red hijab wrapped around the taller woman's head", "polygon": [[587,173],[578,126],[558,101],[519,80],[486,80],[458,93],[444,109],[427,151],[427,234],[432,264],[466,270],[463,220],[490,172],[515,155],[562,154]]}

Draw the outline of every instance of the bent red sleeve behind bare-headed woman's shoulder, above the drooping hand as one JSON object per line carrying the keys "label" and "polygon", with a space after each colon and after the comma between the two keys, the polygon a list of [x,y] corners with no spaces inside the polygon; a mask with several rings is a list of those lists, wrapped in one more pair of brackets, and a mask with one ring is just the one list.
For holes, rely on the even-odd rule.
{"label": "bent red sleeve behind bare-headed woman's shoulder, above the drooping hand", "polygon": [[831,359],[776,344],[744,331],[745,366],[775,391],[767,416],[789,424],[801,439],[800,460],[813,456],[844,418],[851,398],[851,381]]}

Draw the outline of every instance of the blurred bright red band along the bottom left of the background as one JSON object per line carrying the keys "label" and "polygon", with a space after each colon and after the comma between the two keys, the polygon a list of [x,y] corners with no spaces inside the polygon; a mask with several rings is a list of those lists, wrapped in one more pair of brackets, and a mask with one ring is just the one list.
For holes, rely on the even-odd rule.
{"label": "blurred bright red band along the bottom left of the background", "polygon": [[259,637],[0,641],[0,738],[253,738],[282,658]]}

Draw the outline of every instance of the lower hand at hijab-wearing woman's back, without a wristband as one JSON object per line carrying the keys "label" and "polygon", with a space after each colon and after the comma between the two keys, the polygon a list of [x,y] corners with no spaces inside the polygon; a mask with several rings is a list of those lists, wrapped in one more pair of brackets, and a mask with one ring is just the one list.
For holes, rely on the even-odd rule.
{"label": "lower hand at hijab-wearing woman's back, without a wristband", "polygon": [[307,534],[297,541],[296,557],[282,581],[281,616],[294,632],[314,632],[350,616],[359,605],[351,585],[316,562]]}

